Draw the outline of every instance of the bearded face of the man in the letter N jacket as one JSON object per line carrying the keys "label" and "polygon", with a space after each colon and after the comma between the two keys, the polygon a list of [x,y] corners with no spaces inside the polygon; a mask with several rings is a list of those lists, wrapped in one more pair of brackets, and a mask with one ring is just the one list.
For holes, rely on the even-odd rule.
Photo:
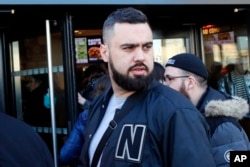
{"label": "bearded face of the man in the letter N jacket", "polygon": [[144,89],[152,80],[153,36],[148,24],[120,23],[108,45],[101,46],[115,83],[125,90]]}

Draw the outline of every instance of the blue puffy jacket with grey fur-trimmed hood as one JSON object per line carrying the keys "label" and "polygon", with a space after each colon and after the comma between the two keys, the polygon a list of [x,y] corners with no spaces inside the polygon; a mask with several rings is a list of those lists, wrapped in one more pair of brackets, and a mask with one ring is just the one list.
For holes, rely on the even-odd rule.
{"label": "blue puffy jacket with grey fur-trimmed hood", "polygon": [[230,151],[250,150],[248,137],[238,123],[249,112],[246,100],[208,88],[197,107],[210,125],[210,143],[217,167],[229,167]]}

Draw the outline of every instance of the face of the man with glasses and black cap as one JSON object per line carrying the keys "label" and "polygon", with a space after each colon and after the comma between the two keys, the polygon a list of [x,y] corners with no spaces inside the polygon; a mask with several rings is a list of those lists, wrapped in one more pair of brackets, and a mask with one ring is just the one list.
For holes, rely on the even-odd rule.
{"label": "face of the man with glasses and black cap", "polygon": [[188,78],[187,75],[184,75],[179,68],[167,66],[165,67],[164,76],[164,85],[177,90],[178,92],[189,98],[185,85],[185,80]]}

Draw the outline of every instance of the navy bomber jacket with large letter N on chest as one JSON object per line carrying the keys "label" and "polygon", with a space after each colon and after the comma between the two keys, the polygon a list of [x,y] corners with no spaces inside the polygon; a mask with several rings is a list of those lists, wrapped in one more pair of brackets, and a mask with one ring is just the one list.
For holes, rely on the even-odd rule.
{"label": "navy bomber jacket with large letter N on chest", "polygon": [[[89,167],[89,144],[112,95],[109,89],[90,107],[79,167]],[[142,100],[134,97],[129,96],[115,114],[127,112],[105,142],[100,167],[215,166],[207,122],[188,99],[157,81]]]}

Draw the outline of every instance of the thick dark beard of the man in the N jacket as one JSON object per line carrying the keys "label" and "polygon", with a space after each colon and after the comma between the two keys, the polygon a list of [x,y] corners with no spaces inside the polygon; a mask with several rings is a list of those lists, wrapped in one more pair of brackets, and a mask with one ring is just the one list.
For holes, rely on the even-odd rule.
{"label": "thick dark beard of the man in the N jacket", "polygon": [[[137,66],[144,66],[145,69],[148,71],[148,67],[143,63],[137,63],[134,66],[130,67],[129,70]],[[113,74],[113,79],[117,83],[117,85],[127,91],[146,90],[148,89],[150,83],[153,80],[152,71],[147,76],[135,76],[134,78],[129,77],[129,75],[123,75],[115,69],[112,60],[110,60],[110,69]]]}

